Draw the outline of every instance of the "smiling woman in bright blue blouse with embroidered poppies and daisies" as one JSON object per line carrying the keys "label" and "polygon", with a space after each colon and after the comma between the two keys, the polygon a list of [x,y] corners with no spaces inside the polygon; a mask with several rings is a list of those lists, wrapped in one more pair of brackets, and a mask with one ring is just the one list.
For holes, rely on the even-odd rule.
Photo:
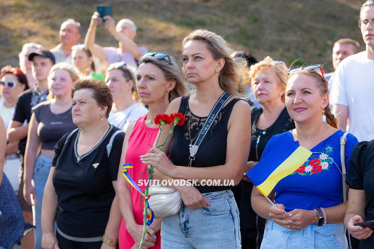
{"label": "smiling woman in bright blue blouse with embroidered poppies and daisies", "polygon": [[[337,130],[337,119],[331,114],[328,83],[320,65],[294,68],[288,74],[285,104],[296,128],[273,136],[262,157],[275,144],[285,144],[287,140],[306,147],[312,155],[270,193],[269,198],[275,200],[278,208],[259,190],[253,190],[254,211],[269,219],[261,249],[347,248],[343,224],[347,203],[341,203],[340,137],[344,132]],[[322,122],[322,115],[328,125]],[[355,136],[347,135],[343,165],[346,169],[357,142]]]}

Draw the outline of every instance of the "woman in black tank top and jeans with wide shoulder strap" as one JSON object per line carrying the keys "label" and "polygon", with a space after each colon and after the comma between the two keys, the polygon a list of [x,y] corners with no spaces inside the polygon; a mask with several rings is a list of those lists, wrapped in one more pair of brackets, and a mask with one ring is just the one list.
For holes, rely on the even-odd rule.
{"label": "woman in black tank top and jeans with wide shoulder strap", "polygon": [[[233,59],[226,41],[205,29],[191,32],[182,45],[184,75],[196,92],[173,100],[166,113],[183,113],[186,121],[174,128],[162,151],[153,148],[141,160],[157,169],[155,179],[196,180],[199,186],[170,186],[180,192],[183,204],[177,214],[162,218],[161,247],[241,248],[239,211],[230,189],[242,179],[251,141],[251,107],[237,92],[246,62]],[[231,97],[208,119],[224,92]],[[208,123],[212,126],[190,160],[190,145]],[[161,141],[169,131],[165,126]],[[206,186],[208,180],[220,184]],[[232,184],[224,186],[224,181]]]}

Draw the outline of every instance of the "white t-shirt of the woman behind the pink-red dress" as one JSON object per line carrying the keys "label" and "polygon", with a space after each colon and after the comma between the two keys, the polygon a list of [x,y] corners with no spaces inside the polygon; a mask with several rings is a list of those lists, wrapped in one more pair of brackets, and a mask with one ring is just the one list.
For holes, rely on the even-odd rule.
{"label": "white t-shirt of the woman behind the pink-red dress", "polygon": [[108,117],[108,123],[114,125],[117,128],[126,131],[128,124],[134,119],[138,119],[148,112],[148,109],[141,106],[139,103],[135,103],[123,111],[110,112]]}

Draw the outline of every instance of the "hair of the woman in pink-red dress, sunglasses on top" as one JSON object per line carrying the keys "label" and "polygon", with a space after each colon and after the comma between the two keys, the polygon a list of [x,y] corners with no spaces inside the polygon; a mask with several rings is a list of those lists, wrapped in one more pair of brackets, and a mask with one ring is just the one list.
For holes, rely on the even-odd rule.
{"label": "hair of the woman in pink-red dress, sunglasses on top", "polygon": [[187,88],[186,83],[184,82],[184,75],[182,69],[178,65],[177,60],[173,56],[169,55],[170,63],[165,60],[156,59],[153,56],[142,57],[139,61],[141,63],[152,63],[157,66],[165,75],[166,80],[175,80],[175,87],[169,93],[169,101],[178,97],[186,96]]}

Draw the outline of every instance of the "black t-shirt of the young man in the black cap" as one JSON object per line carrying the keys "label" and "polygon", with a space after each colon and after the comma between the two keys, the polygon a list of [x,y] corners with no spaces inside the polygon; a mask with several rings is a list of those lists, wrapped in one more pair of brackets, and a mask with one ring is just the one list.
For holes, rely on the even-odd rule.
{"label": "black t-shirt of the young man in the black cap", "polygon": [[[21,123],[25,122],[26,120],[27,123],[29,123],[31,119],[31,108],[40,102],[46,101],[48,93],[48,90],[45,93],[41,93],[40,90],[34,86],[33,88],[27,89],[23,93],[19,94],[13,120]],[[18,149],[22,155],[25,155],[26,142],[27,137],[20,140],[18,143]]]}

